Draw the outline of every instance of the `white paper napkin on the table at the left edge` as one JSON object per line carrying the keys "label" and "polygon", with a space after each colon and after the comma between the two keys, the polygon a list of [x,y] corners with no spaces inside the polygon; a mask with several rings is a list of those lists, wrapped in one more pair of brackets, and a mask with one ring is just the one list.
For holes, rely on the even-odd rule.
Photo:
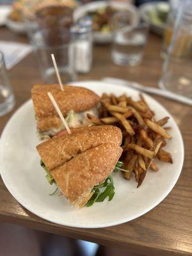
{"label": "white paper napkin on the table at the left edge", "polygon": [[3,52],[5,65],[9,70],[31,52],[31,45],[0,41],[0,51]]}

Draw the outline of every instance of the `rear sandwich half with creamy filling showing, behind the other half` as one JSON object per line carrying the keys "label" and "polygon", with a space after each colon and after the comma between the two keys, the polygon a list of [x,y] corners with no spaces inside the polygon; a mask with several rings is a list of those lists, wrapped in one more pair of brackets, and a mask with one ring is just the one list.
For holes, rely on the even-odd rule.
{"label": "rear sandwich half with creamy filling showing, behind the other half", "polygon": [[69,127],[89,125],[88,113],[98,116],[100,97],[91,90],[65,85],[62,92],[58,84],[36,84],[31,90],[31,97],[40,138],[54,136],[65,129],[47,92],[52,93]]}

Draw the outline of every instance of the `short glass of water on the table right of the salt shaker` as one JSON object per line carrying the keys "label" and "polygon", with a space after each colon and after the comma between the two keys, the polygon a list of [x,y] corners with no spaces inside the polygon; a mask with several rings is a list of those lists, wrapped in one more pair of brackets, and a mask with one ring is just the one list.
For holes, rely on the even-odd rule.
{"label": "short glass of water on the table right of the salt shaker", "polygon": [[148,23],[129,24],[129,12],[116,13],[112,20],[112,59],[117,65],[136,66],[141,63],[147,43]]}

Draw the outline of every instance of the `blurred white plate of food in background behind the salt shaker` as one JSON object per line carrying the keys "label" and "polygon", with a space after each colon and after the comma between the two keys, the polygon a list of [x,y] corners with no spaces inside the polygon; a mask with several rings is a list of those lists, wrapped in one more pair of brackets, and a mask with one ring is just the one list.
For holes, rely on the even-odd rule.
{"label": "blurred white plate of food in background behind the salt shaker", "polygon": [[[93,3],[83,4],[79,8],[76,8],[74,10],[74,20],[77,21],[79,18],[83,17],[90,11],[97,10],[98,8],[104,8],[108,6],[107,1],[94,1]],[[132,25],[136,25],[139,22],[139,15],[138,11],[132,4],[127,3],[118,3],[118,2],[111,2],[111,6],[115,8],[116,10],[127,10],[132,15]],[[100,44],[106,44],[111,42],[112,35],[111,33],[102,33],[95,31],[93,33],[93,39],[94,42],[100,43]]]}

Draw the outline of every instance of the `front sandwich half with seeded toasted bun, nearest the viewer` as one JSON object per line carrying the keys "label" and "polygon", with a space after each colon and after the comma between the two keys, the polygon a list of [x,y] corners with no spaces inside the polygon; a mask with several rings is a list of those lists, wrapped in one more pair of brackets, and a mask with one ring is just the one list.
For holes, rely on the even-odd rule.
{"label": "front sandwich half with seeded toasted bun, nearest the viewer", "polygon": [[[36,148],[48,179],[70,204],[83,207],[95,188],[107,182],[122,154],[122,132],[113,125],[74,129]],[[112,179],[112,178],[110,178]],[[113,197],[113,196],[112,196]]]}

